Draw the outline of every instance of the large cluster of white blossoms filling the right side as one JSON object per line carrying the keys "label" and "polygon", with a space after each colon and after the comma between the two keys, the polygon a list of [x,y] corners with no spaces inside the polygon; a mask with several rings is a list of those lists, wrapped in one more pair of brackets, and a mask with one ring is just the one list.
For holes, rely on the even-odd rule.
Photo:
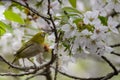
{"label": "large cluster of white blossoms filling the right side", "polygon": [[[67,49],[67,54],[61,52],[64,56],[62,60],[74,61],[81,55],[101,56],[114,51],[110,45],[115,41],[113,36],[119,37],[118,4],[119,0],[96,0],[92,10],[80,14],[80,17],[70,17],[67,24],[60,27],[64,32],[63,50]],[[68,55],[70,58],[65,58]]]}

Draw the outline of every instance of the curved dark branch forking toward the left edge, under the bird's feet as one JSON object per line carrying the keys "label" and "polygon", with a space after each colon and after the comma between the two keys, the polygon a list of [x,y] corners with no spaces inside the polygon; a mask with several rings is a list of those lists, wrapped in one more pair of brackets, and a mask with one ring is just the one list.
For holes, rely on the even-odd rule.
{"label": "curved dark branch forking toward the left edge, under the bird's feet", "polygon": [[52,58],[51,58],[51,60],[48,63],[46,63],[46,64],[44,64],[42,66],[36,67],[36,68],[33,67],[33,66],[31,66],[31,67],[25,67],[25,68],[16,67],[16,66],[10,64],[2,56],[0,56],[0,60],[3,61],[3,62],[5,62],[6,64],[8,64],[9,66],[11,66],[12,68],[19,69],[19,70],[22,70],[22,71],[26,71],[26,69],[27,70],[34,69],[31,72],[24,72],[24,73],[20,73],[20,74],[16,74],[16,73],[0,73],[0,76],[24,76],[24,75],[29,75],[29,74],[35,74],[40,69],[43,69],[44,67],[50,66],[56,60],[56,55],[52,54]]}

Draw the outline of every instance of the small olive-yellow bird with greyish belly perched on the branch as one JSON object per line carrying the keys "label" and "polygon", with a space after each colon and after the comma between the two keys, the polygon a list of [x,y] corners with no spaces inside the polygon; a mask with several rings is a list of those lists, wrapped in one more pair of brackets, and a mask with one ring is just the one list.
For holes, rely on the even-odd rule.
{"label": "small olive-yellow bird with greyish belly perched on the branch", "polygon": [[[19,59],[24,59],[36,56],[37,54],[44,53],[45,50],[45,32],[41,31],[35,34],[30,40],[28,40],[22,47],[16,51],[14,54],[15,58],[11,64],[18,61]],[[9,66],[10,68],[10,66]]]}

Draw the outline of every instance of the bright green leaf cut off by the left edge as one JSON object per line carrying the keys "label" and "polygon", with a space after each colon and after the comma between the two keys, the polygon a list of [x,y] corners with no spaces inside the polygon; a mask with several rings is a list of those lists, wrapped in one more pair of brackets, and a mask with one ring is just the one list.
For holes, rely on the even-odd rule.
{"label": "bright green leaf cut off by the left edge", "polygon": [[5,34],[6,30],[9,30],[10,32],[13,31],[12,28],[9,25],[7,25],[7,24],[3,23],[2,21],[0,21],[0,36]]}

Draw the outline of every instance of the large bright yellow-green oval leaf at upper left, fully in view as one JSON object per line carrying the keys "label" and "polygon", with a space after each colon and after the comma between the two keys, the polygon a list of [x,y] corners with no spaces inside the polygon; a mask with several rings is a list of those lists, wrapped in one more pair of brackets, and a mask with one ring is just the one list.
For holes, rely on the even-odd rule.
{"label": "large bright yellow-green oval leaf at upper left, fully in view", "polygon": [[19,14],[14,13],[11,10],[6,10],[4,12],[5,18],[14,22],[18,22],[20,24],[25,24],[24,20],[20,17]]}

